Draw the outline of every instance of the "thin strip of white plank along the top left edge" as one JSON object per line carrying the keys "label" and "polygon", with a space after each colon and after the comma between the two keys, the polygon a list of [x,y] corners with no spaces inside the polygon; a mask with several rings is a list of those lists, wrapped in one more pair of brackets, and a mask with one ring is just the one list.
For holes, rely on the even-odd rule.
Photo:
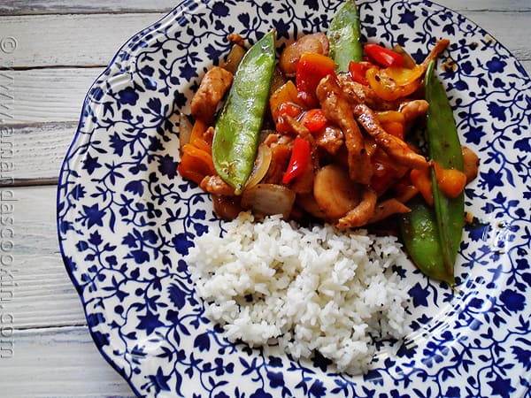
{"label": "thin strip of white plank along the top left edge", "polygon": [[174,0],[4,0],[0,4],[0,15],[163,12],[171,10],[175,4]]}

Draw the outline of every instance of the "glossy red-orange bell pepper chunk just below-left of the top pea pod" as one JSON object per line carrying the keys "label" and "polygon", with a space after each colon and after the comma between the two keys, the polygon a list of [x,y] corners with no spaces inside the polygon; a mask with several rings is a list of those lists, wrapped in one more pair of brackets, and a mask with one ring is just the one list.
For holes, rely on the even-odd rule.
{"label": "glossy red-orange bell pepper chunk just below-left of the top pea pod", "polygon": [[308,108],[319,107],[315,89],[328,74],[335,74],[335,63],[331,57],[313,52],[304,52],[300,57],[296,66],[296,89]]}

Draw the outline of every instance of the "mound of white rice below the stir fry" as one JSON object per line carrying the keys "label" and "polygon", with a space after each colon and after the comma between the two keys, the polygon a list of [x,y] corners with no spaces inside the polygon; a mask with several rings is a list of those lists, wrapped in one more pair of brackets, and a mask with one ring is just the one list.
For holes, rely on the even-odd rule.
{"label": "mound of white rice below the stir fry", "polygon": [[278,343],[295,359],[317,350],[350,374],[366,372],[374,339],[402,339],[409,286],[394,237],[300,227],[242,212],[196,238],[186,261],[205,315],[229,341]]}

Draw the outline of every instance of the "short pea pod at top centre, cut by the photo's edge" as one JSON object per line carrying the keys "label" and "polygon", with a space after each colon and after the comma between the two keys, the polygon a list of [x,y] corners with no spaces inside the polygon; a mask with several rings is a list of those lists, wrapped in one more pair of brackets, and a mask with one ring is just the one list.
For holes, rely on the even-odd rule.
{"label": "short pea pod at top centre, cut by the photo's edge", "polygon": [[350,62],[363,59],[360,36],[358,7],[354,0],[347,0],[335,13],[327,31],[329,54],[335,61],[335,72],[349,72]]}

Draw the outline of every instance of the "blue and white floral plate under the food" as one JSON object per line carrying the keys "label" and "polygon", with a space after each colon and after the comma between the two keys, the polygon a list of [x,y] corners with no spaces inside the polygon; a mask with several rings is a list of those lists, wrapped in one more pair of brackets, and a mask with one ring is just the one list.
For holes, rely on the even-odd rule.
{"label": "blue and white floral plate under the food", "polygon": [[[136,34],[90,88],[58,185],[58,234],[97,348],[140,396],[530,396],[531,81],[470,20],[431,2],[359,0],[366,40],[418,60],[447,37],[438,68],[462,142],[481,157],[466,188],[456,291],[398,269],[411,285],[406,341],[380,344],[365,376],[322,358],[227,342],[204,318],[183,256],[218,224],[208,195],[176,173],[174,112],[227,54],[276,28],[326,31],[339,0],[183,1]],[[451,62],[450,62],[451,64]],[[441,65],[441,64],[439,64]]]}

